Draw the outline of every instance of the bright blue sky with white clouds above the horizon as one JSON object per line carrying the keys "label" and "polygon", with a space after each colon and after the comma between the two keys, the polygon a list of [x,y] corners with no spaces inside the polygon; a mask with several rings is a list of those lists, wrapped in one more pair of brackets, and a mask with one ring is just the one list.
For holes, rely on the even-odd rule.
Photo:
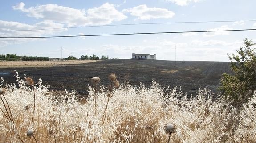
{"label": "bright blue sky with white clouds above the horizon", "polygon": [[[1,0],[0,37],[252,29],[255,5],[256,0]],[[237,22],[104,26],[233,20]],[[29,29],[47,30],[13,31]],[[0,54],[61,58],[62,47],[63,58],[96,54],[130,59],[136,53],[175,60],[176,45],[179,61],[229,61],[228,54],[236,53],[244,38],[256,43],[255,32],[0,39]]]}

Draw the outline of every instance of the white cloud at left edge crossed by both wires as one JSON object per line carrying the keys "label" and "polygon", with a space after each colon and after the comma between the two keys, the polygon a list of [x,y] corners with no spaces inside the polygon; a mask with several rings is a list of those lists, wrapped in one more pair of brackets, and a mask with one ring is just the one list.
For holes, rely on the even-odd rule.
{"label": "white cloud at left edge crossed by both wires", "polygon": [[[34,25],[13,22],[13,21],[2,21],[0,20],[0,37],[33,37],[42,35],[51,35],[66,31],[62,28],[64,25],[60,23],[54,23],[53,21],[42,21]],[[57,29],[52,29],[57,28]],[[28,29],[47,29],[47,30],[37,30],[37,31],[23,31]],[[17,31],[18,30],[18,31]],[[20,31],[19,31],[20,30]],[[28,41],[44,40],[44,39],[0,39],[0,46],[6,46],[8,44],[24,43]]]}

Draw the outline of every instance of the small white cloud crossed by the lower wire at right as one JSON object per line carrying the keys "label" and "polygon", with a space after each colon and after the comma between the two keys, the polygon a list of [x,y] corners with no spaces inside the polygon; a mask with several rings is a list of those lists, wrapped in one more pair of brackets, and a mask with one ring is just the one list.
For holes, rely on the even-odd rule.
{"label": "small white cloud crossed by the lower wire at right", "polygon": [[[228,25],[223,25],[221,27],[208,29],[207,31],[219,31],[219,30],[232,30],[232,28],[229,28]],[[229,35],[229,31],[203,33],[203,37],[213,37],[213,36],[219,36],[219,35]]]}

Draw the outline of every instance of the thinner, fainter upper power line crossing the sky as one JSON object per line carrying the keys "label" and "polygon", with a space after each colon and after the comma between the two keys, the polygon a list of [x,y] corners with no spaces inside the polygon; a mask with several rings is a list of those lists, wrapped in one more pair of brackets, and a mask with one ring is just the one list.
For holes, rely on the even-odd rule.
{"label": "thinner, fainter upper power line crossing the sky", "polygon": [[62,27],[62,28],[44,28],[44,29],[27,29],[27,30],[9,30],[0,32],[16,32],[16,31],[37,31],[37,30],[55,30],[55,29],[69,29],[69,28],[86,28],[86,27],[112,27],[112,26],[126,26],[126,25],[154,25],[154,24],[175,24],[175,23],[223,23],[223,22],[239,22],[239,21],[256,21],[252,20],[226,20],[226,21],[191,21],[191,22],[165,22],[165,23],[130,23],[130,24],[112,24],[112,25],[94,25],[94,26],[78,26],[78,27]]}

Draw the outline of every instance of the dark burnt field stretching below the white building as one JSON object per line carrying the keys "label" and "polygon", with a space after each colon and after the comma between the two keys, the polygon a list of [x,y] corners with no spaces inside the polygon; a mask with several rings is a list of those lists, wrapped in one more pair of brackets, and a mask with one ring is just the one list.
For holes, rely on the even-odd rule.
{"label": "dark burnt field stretching below the white building", "polygon": [[44,85],[50,85],[51,90],[75,89],[82,95],[86,94],[94,76],[101,78],[100,85],[108,85],[107,76],[110,73],[115,73],[121,83],[129,80],[132,85],[139,85],[140,82],[149,85],[154,79],[163,87],[181,86],[184,92],[193,95],[206,86],[216,93],[222,74],[231,73],[229,62],[177,61],[174,67],[174,61],[106,60],[53,67],[1,68],[0,77],[4,78],[5,83],[16,82],[13,70],[17,70],[21,78],[24,78],[24,74],[35,81],[41,78]]}

